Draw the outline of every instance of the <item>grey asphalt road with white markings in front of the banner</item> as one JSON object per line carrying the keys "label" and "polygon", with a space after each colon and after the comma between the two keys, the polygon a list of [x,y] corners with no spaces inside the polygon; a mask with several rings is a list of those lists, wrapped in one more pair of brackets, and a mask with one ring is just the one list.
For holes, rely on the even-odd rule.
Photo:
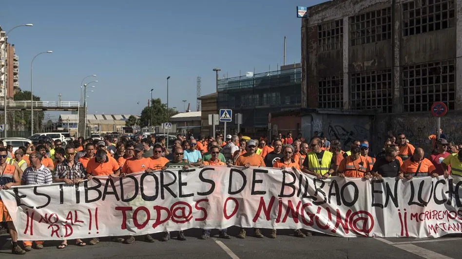
{"label": "grey asphalt road with white markings in front of the banner", "polygon": [[[57,241],[45,242],[45,248],[28,252],[24,258],[161,258],[161,259],[281,259],[281,258],[309,258],[309,259],[365,259],[365,258],[396,258],[396,259],[460,259],[462,258],[462,238],[459,236],[443,237],[440,239],[375,239],[375,238],[338,238],[315,234],[305,239],[293,237],[290,230],[278,230],[277,239],[258,239],[252,236],[237,239],[234,236],[238,228],[232,227],[228,233],[231,240],[214,237],[199,240],[199,229],[185,231],[187,240],[178,241],[176,233],[168,242],[160,242],[162,234],[154,234],[154,243],[143,242],[142,238],[132,244],[110,242],[102,239],[96,245],[77,247],[75,242],[69,241],[64,249],[56,249]],[[263,234],[269,236],[270,230]],[[14,258],[10,254],[11,240],[8,235],[0,236],[0,258]]]}

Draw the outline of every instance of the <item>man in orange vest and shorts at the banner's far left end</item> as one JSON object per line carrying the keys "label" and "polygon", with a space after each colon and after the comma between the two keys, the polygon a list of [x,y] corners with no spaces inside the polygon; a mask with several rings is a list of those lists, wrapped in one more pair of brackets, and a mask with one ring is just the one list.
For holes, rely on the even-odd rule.
{"label": "man in orange vest and shorts at the banner's far left end", "polygon": [[[3,172],[0,174],[0,190],[8,190],[12,186],[21,185],[21,179],[19,178],[19,171],[14,165],[6,163],[6,157],[8,156],[6,148],[0,148],[0,171]],[[11,219],[8,210],[6,209],[3,201],[0,197],[0,217],[1,220],[6,221],[8,226],[8,232],[11,236],[13,242],[13,247],[11,248],[11,253],[15,255],[24,255],[26,251],[18,245],[18,232],[16,231],[13,220]]]}

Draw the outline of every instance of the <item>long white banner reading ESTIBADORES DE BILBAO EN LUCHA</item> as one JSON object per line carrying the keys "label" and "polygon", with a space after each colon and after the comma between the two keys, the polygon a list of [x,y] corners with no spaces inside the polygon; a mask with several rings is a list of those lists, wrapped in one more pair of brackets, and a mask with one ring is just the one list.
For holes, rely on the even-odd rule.
{"label": "long white banner reading ESTIBADORES DE BILBAO EN LUCHA", "polygon": [[188,228],[304,228],[341,237],[462,231],[461,178],[317,179],[273,168],[205,167],[1,190],[20,240]]}

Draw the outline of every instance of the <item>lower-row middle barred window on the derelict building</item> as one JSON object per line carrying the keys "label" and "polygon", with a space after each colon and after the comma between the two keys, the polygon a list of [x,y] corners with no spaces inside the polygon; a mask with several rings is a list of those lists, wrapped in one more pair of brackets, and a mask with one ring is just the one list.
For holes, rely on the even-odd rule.
{"label": "lower-row middle barred window on the derelict building", "polygon": [[351,109],[381,109],[384,113],[391,113],[391,69],[351,74],[350,98]]}

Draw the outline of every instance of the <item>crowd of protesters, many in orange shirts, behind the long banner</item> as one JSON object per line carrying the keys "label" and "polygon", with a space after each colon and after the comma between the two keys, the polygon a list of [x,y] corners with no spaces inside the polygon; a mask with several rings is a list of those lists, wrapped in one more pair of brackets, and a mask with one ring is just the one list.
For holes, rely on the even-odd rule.
{"label": "crowd of protesters, many in orange shirts, behind the long banner", "polygon": [[[75,185],[80,181],[91,181],[96,176],[124,177],[137,172],[150,173],[156,170],[188,169],[204,166],[271,167],[292,169],[313,175],[320,179],[331,176],[365,179],[394,177],[412,179],[419,176],[444,177],[462,175],[462,144],[450,143],[440,129],[441,138],[430,135],[433,151],[425,157],[422,148],[415,148],[404,134],[390,136],[383,143],[380,152],[371,152],[367,139],[355,140],[349,150],[342,150],[337,139],[314,137],[305,139],[301,135],[292,138],[290,132],[271,138],[249,139],[242,134],[213,136],[177,135],[171,149],[167,148],[163,136],[156,138],[130,139],[106,136],[104,140],[78,138],[66,146],[60,140],[31,143],[20,147],[14,154],[10,147],[3,147],[0,141],[0,189],[7,190],[19,185],[45,185],[63,182]],[[377,143],[378,145],[378,143]],[[22,241],[7,208],[0,199],[0,215],[3,229],[12,239],[12,253],[23,255],[32,248],[42,249],[44,241]],[[246,229],[242,228],[237,238],[244,239]],[[253,235],[264,238],[258,228]],[[210,229],[204,229],[201,239],[208,239]],[[309,231],[295,229],[294,236],[305,238]],[[227,229],[219,229],[219,237],[230,239]],[[183,231],[178,231],[178,240],[186,240]],[[273,229],[270,238],[276,238]],[[162,241],[171,239],[170,232],[164,232]],[[154,242],[147,234],[146,242]],[[134,236],[112,237],[114,242],[133,243]],[[77,246],[96,245],[100,240],[77,239]],[[58,249],[68,245],[63,240]]]}

